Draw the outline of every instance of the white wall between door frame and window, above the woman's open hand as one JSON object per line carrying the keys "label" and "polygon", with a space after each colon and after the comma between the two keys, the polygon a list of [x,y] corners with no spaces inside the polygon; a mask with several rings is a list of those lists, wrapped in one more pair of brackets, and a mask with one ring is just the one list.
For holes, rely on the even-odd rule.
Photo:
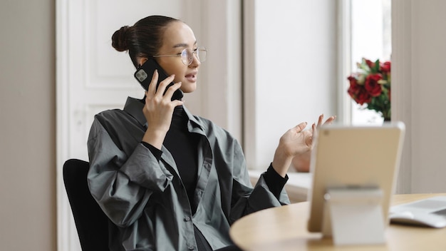
{"label": "white wall between door frame and window, above the woman's open hand", "polygon": [[336,1],[245,1],[245,154],[271,162],[286,130],[336,114]]}

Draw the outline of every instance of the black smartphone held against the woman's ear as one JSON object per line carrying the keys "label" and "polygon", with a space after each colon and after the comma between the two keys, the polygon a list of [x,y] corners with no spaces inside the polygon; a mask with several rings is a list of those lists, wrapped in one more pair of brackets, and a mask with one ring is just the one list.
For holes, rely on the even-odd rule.
{"label": "black smartphone held against the woman's ear", "polygon": [[[157,89],[160,85],[160,82],[165,80],[167,78],[167,73],[161,68],[161,66],[155,61],[155,59],[150,58],[149,60],[145,61],[145,63],[142,64],[142,66],[139,66],[135,71],[135,78],[140,82],[142,88],[145,89],[145,91],[148,90],[150,81],[152,81],[153,73],[155,72],[155,69],[158,70],[158,81],[157,81]],[[172,86],[174,83],[170,83],[167,85],[167,88]],[[164,95],[167,91],[167,88],[162,95]],[[180,89],[177,89],[172,95],[172,101],[175,99],[181,100],[183,97],[182,91]]]}

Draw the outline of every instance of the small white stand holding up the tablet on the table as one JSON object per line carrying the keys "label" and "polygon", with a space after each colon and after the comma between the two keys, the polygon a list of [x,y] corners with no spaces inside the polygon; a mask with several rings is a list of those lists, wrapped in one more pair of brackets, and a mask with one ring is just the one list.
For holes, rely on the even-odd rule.
{"label": "small white stand holding up the tablet on the table", "polygon": [[324,195],[322,232],[335,245],[383,244],[384,219],[379,188],[331,188]]}

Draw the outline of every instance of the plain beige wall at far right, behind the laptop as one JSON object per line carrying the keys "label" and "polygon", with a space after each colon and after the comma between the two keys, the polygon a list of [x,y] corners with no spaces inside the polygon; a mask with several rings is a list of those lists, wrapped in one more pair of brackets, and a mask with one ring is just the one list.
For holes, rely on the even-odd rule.
{"label": "plain beige wall at far right, behind the laptop", "polygon": [[392,4],[392,120],[407,128],[400,193],[446,191],[445,9],[442,0]]}

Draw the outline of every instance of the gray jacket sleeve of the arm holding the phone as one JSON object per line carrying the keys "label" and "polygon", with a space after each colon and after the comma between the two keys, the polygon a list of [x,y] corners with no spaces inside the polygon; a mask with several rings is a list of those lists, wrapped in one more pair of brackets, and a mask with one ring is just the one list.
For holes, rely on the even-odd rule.
{"label": "gray jacket sleeve of the arm holding the phone", "polygon": [[138,220],[153,193],[162,192],[172,174],[139,143],[124,153],[95,119],[88,136],[88,186],[93,198],[115,225],[128,227]]}

